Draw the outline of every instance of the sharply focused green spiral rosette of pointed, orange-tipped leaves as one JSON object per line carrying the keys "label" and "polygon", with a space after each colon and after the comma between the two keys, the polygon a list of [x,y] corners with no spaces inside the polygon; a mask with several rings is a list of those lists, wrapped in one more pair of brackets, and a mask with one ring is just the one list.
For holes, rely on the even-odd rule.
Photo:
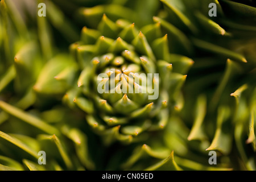
{"label": "sharply focused green spiral rosette of pointed, orange-tipped leaves", "polygon": [[159,23],[139,31],[135,23],[113,22],[102,11],[97,30],[84,27],[80,42],[71,46],[82,71],[64,101],[84,110],[106,143],[144,140],[148,131],[166,126],[174,107],[182,107],[180,88],[193,61],[169,49]]}

